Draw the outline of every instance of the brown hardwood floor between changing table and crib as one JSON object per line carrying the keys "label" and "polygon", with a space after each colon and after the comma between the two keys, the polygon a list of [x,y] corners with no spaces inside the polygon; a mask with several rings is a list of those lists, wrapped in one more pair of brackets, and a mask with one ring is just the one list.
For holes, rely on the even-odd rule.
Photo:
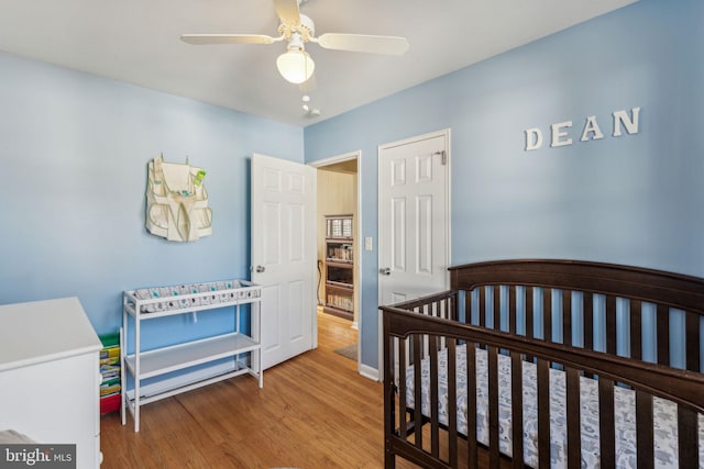
{"label": "brown hardwood floor between changing table and crib", "polygon": [[[101,420],[102,469],[381,468],[382,384],[333,350],[356,342],[350,322],[318,314],[318,348],[264,372],[238,377]],[[413,465],[399,461],[398,468]]]}

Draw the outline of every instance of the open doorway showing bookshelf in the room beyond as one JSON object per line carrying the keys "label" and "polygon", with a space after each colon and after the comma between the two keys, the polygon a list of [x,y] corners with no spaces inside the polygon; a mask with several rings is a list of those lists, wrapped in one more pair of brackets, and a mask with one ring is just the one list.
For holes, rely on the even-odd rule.
{"label": "open doorway showing bookshelf in the room beyond", "polygon": [[318,169],[318,343],[330,344],[340,355],[356,360],[358,368],[361,271],[359,165],[359,152],[312,165]]}

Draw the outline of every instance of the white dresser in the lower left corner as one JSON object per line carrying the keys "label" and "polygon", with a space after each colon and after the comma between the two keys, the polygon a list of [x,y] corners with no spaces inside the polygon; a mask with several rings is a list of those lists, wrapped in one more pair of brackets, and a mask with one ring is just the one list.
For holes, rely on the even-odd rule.
{"label": "white dresser in the lower left corner", "polygon": [[77,298],[0,305],[0,431],[76,444],[77,468],[97,468],[100,348]]}

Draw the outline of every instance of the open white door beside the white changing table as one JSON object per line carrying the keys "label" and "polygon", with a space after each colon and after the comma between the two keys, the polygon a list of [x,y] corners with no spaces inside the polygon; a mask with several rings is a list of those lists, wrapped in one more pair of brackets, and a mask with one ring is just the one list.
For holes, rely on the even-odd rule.
{"label": "open white door beside the white changing table", "polygon": [[262,286],[262,367],[315,347],[316,170],[252,157],[252,281]]}

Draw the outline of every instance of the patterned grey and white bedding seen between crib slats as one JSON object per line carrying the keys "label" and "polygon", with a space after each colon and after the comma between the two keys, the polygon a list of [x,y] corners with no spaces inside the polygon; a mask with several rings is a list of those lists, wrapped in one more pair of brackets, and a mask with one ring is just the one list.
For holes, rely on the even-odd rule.
{"label": "patterned grey and white bedding seen between crib slats", "polygon": [[[447,349],[442,349],[438,357],[439,420],[448,424],[448,377]],[[510,418],[510,358],[498,356],[498,388],[499,388],[499,450],[512,456],[512,418]],[[466,422],[466,349],[457,347],[457,381],[458,381],[458,432],[468,434]],[[487,382],[486,351],[476,350],[476,401],[477,401],[477,439],[488,445],[488,382]],[[421,412],[430,415],[430,362],[428,358],[421,361],[422,403]],[[534,468],[538,467],[538,392],[537,367],[524,361],[524,461]],[[565,404],[565,373],[550,369],[550,466],[566,468],[566,415]],[[581,378],[581,435],[582,435],[582,467],[598,468],[598,384],[591,378]],[[415,409],[414,399],[414,367],[408,367],[406,373],[407,406]],[[616,426],[616,465],[618,468],[636,468],[636,403],[635,392],[631,390],[614,389],[615,426]],[[656,467],[676,468],[676,405],[668,400],[653,398],[653,439]],[[704,467],[704,416],[698,415],[698,467]]]}

